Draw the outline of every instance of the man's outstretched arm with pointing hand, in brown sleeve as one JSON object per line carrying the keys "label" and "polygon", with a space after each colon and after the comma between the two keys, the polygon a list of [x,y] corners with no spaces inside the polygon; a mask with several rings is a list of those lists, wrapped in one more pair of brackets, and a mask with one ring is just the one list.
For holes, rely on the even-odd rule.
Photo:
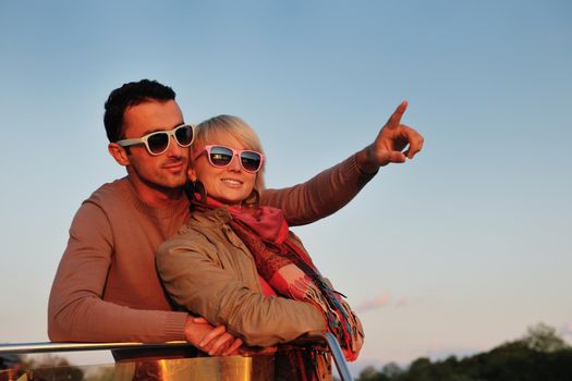
{"label": "man's outstretched arm with pointing hand, in brown sleeve", "polygon": [[380,167],[413,159],[422,149],[423,136],[401,124],[406,108],[407,102],[403,101],[381,127],[376,139],[364,149],[305,183],[281,189],[265,189],[260,202],[282,209],[291,226],[307,224],[340,210],[374,177]]}

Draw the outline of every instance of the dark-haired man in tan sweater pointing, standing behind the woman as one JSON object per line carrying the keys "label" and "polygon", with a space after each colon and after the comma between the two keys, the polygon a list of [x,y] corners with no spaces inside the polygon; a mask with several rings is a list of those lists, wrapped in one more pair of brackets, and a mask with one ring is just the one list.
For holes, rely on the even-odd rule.
{"label": "dark-haired man in tan sweater pointing, standing behind the woman", "polygon": [[[290,225],[339,210],[379,167],[421,150],[423,137],[400,124],[405,109],[406,102],[398,107],[370,146],[304,184],[264,190],[260,202],[281,208]],[[50,293],[50,340],[186,340],[212,355],[231,353],[241,341],[174,311],[155,269],[157,247],[188,217],[183,186],[192,127],[174,91],[147,79],[125,84],[110,94],[104,122],[109,153],[127,176],[102,185],[75,214]]]}

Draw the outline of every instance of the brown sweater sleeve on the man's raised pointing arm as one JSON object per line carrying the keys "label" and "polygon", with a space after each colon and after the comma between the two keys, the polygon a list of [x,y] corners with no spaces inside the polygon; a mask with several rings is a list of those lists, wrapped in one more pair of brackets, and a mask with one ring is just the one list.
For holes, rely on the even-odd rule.
{"label": "brown sweater sleeve on the man's raised pointing arm", "polygon": [[290,226],[303,225],[343,208],[374,175],[360,171],[354,155],[305,183],[263,190],[260,204],[282,209]]}

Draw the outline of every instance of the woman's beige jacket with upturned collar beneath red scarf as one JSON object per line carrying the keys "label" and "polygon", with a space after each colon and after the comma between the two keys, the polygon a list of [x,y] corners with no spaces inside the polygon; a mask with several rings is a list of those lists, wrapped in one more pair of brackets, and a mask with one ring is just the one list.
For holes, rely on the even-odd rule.
{"label": "woman's beige jacket with upturned collar beneath red scarf", "polygon": [[247,345],[271,346],[326,331],[321,312],[305,302],[265,296],[254,259],[229,226],[226,208],[193,212],[159,247],[157,269],[184,309],[224,324]]}

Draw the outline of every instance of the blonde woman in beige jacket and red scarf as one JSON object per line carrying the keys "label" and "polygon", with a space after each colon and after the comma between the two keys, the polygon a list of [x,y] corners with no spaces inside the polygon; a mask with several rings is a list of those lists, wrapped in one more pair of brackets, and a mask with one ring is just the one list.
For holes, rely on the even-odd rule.
{"label": "blonde woman in beige jacket and red scarf", "polygon": [[178,305],[224,324],[247,345],[330,330],[355,359],[360,321],[281,210],[257,205],[264,164],[260,142],[241,119],[220,115],[197,126],[188,169],[193,212],[156,258],[166,288]]}

